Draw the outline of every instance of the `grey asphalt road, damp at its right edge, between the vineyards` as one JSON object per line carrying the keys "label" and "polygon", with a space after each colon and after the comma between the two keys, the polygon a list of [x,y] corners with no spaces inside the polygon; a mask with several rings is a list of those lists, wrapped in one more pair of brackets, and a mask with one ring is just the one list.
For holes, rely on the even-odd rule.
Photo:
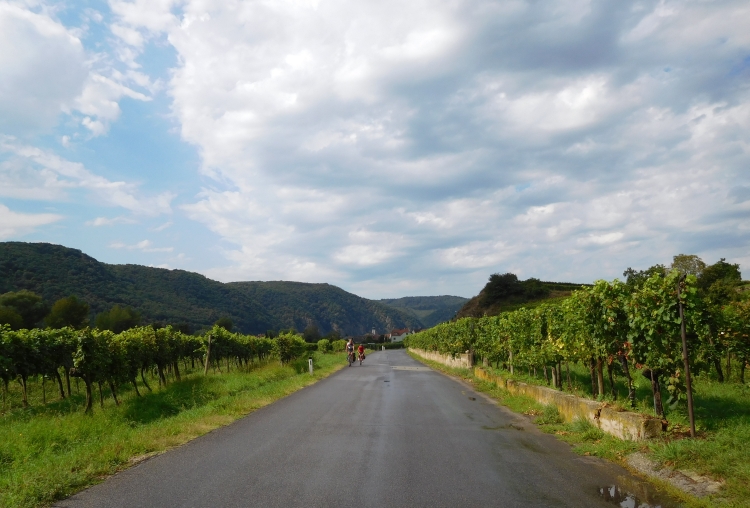
{"label": "grey asphalt road, damp at its right edge, between the vineyards", "polygon": [[57,506],[656,506],[645,489],[393,350]]}

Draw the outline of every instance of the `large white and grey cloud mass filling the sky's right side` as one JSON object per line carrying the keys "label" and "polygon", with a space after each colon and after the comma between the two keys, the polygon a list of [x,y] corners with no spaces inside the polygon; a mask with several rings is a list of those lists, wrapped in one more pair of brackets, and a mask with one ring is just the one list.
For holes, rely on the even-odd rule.
{"label": "large white and grey cloud mass filling the sky's right side", "polygon": [[223,239],[214,277],[471,295],[493,271],[747,257],[747,2],[110,6],[127,70],[92,71],[73,107],[107,132],[162,86],[148,41],[173,46],[207,177],[180,210]]}

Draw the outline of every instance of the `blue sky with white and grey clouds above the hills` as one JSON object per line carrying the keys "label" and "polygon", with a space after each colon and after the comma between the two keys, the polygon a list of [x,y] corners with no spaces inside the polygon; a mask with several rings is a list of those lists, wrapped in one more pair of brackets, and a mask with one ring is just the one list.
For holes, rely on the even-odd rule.
{"label": "blue sky with white and grey clouds above the hills", "polygon": [[750,266],[747,0],[0,0],[0,241],[470,297]]}

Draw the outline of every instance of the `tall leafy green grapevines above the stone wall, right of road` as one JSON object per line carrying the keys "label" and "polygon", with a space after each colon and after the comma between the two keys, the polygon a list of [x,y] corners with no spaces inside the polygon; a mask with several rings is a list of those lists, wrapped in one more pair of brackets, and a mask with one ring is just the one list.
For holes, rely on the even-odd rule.
{"label": "tall leafy green grapevines above the stone wall, right of road", "polygon": [[697,256],[680,255],[669,268],[629,268],[625,276],[625,282],[600,280],[582,287],[557,305],[438,325],[408,337],[407,346],[451,355],[473,351],[511,373],[542,369],[558,388],[564,384],[563,365],[577,362],[589,369],[594,397],[606,395],[606,368],[612,397],[617,396],[614,378],[622,375],[633,406],[632,376],[640,370],[651,381],[656,414],[664,416],[662,385],[671,404],[686,393],[681,302],[692,373],[713,370],[723,382],[722,359],[727,371],[734,360],[738,380],[745,382],[750,292],[744,291],[739,265],[722,259],[706,266]]}

